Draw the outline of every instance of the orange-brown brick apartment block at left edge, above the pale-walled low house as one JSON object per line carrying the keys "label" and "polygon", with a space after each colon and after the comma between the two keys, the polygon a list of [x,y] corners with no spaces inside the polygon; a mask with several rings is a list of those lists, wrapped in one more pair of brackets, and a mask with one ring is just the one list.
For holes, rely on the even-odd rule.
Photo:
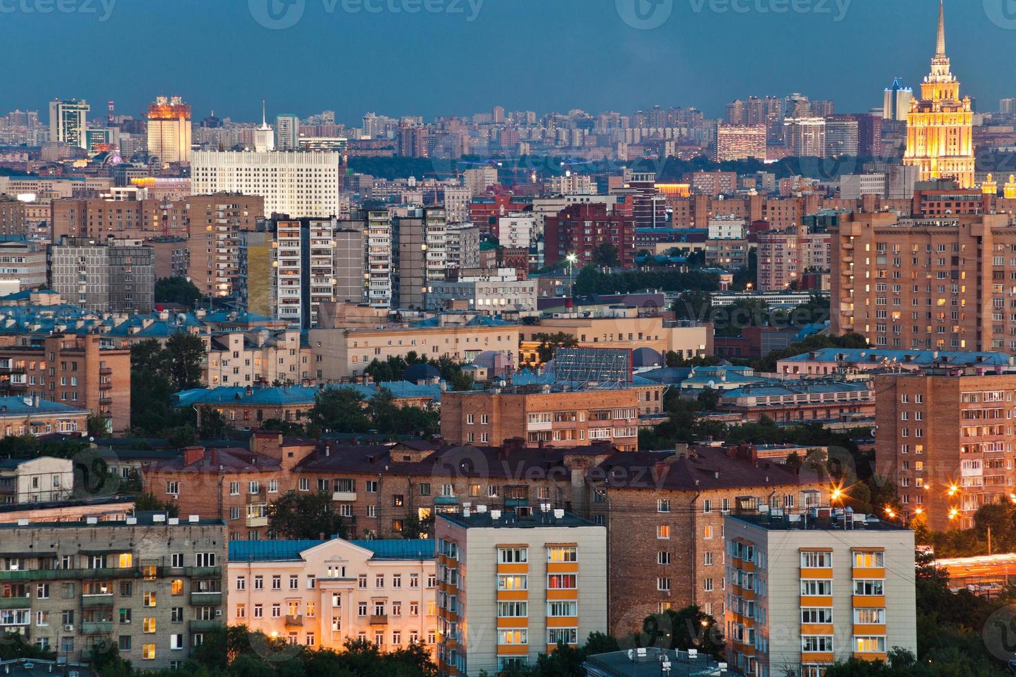
{"label": "orange-brown brick apartment block at left edge, above the pale-walled low house", "polygon": [[130,348],[98,334],[0,337],[0,395],[37,396],[88,409],[111,432],[130,427]]}

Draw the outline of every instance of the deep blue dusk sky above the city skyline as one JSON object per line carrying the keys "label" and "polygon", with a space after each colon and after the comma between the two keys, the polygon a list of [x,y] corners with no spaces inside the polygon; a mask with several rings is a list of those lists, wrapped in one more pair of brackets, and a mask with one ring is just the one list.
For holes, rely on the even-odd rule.
{"label": "deep blue dusk sky above the city skyline", "polygon": [[[303,14],[266,28],[255,16],[271,22],[268,2],[280,22]],[[649,23],[670,15],[633,27],[633,2]],[[809,11],[758,9],[793,5]],[[137,116],[153,96],[179,94],[196,119],[212,109],[260,118],[266,98],[269,116],[330,109],[356,124],[367,111],[430,119],[495,105],[627,114],[659,104],[719,116],[736,97],[801,91],[865,112],[894,76],[916,88],[937,10],[936,0],[0,0],[0,109],[76,96],[94,117],[111,98]],[[996,110],[1016,95],[1016,1],[947,0],[946,16],[962,91]]]}

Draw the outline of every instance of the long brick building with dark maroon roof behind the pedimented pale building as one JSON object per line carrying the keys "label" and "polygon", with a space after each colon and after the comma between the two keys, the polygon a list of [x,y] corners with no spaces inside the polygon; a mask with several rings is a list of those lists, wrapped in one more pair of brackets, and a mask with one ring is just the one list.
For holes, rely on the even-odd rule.
{"label": "long brick building with dark maroon roof behind the pedimented pale building", "polygon": [[[251,451],[185,450],[145,469],[145,490],[202,517],[227,522],[232,540],[267,536],[267,503],[288,491],[324,491],[351,537],[398,538],[406,521],[466,503],[525,512],[552,503],[584,513],[585,474],[616,453],[609,445],[569,449],[343,446],[255,432]],[[221,468],[221,470],[219,470]]]}

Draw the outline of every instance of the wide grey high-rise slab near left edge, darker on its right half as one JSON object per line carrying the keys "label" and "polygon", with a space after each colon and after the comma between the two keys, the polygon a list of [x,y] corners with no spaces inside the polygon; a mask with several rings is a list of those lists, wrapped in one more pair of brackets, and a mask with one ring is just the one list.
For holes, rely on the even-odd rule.
{"label": "wide grey high-rise slab near left edge, darker on its right half", "polygon": [[150,313],[155,269],[139,240],[64,238],[51,250],[53,290],[67,302],[98,313]]}

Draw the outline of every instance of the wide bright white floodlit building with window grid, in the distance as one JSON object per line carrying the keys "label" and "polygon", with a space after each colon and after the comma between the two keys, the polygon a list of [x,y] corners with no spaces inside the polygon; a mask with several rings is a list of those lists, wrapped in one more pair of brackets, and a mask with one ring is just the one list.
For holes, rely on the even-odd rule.
{"label": "wide bright white floodlit building with window grid, in the distance", "polygon": [[339,161],[336,152],[196,150],[191,190],[261,196],[265,216],[327,218],[338,213]]}

